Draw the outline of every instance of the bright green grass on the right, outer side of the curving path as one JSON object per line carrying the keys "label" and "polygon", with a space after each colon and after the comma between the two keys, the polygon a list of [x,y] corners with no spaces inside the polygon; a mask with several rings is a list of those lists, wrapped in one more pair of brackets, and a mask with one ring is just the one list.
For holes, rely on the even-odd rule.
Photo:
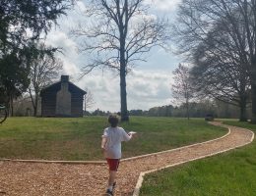
{"label": "bright green grass on the right, outer side of the curving path", "polygon": [[[256,125],[226,121],[256,132]],[[147,175],[140,196],[254,196],[256,141],[213,158]]]}

